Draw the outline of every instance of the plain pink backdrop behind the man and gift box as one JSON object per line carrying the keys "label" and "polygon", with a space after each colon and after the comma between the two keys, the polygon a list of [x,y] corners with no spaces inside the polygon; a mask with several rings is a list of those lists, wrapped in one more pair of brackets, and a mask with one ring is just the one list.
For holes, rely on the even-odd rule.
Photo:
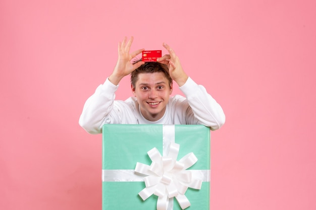
{"label": "plain pink backdrop behind the man and gift box", "polygon": [[[2,0],[0,209],[101,209],[101,135],[78,119],[124,36],[135,37],[132,50],[171,45],[222,105],[211,209],[316,209],[315,8],[313,0]],[[117,98],[131,95],[126,78]]]}

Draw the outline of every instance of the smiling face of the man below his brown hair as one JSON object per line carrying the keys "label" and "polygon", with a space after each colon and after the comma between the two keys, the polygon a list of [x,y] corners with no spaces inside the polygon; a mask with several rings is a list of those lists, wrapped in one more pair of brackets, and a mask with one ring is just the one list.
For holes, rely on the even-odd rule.
{"label": "smiling face of the man below his brown hair", "polygon": [[136,96],[142,115],[150,121],[164,116],[166,105],[172,93],[164,73],[141,73],[132,91]]}

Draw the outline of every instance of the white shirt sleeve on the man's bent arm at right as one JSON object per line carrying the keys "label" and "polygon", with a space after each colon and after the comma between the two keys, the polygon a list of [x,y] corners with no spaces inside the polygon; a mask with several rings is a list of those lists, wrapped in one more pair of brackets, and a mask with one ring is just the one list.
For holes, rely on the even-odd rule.
{"label": "white shirt sleeve on the man's bent arm at right", "polygon": [[189,77],[186,83],[179,88],[185,95],[194,117],[199,121],[199,124],[216,130],[225,123],[225,114],[222,107],[207,93],[203,86],[197,85]]}

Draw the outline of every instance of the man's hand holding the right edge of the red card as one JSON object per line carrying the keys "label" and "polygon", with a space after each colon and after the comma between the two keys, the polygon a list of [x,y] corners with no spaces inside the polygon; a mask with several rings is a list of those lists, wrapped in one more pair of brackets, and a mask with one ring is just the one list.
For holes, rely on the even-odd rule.
{"label": "man's hand holding the right edge of the red card", "polygon": [[181,87],[186,83],[188,76],[183,71],[180,60],[173,49],[166,43],[163,43],[163,46],[169,54],[157,58],[157,61],[168,65],[170,77]]}

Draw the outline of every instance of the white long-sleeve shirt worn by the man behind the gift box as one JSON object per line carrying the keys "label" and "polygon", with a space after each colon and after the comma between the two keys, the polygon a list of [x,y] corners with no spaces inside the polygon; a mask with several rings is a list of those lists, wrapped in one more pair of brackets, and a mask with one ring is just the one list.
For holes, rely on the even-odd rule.
{"label": "white long-sleeve shirt worn by the man behind the gift box", "polygon": [[185,97],[170,97],[164,116],[149,121],[141,114],[136,97],[115,100],[118,86],[107,79],[85,102],[79,124],[92,134],[101,133],[103,124],[202,124],[212,130],[224,124],[222,107],[203,86],[188,78],[179,88]]}

